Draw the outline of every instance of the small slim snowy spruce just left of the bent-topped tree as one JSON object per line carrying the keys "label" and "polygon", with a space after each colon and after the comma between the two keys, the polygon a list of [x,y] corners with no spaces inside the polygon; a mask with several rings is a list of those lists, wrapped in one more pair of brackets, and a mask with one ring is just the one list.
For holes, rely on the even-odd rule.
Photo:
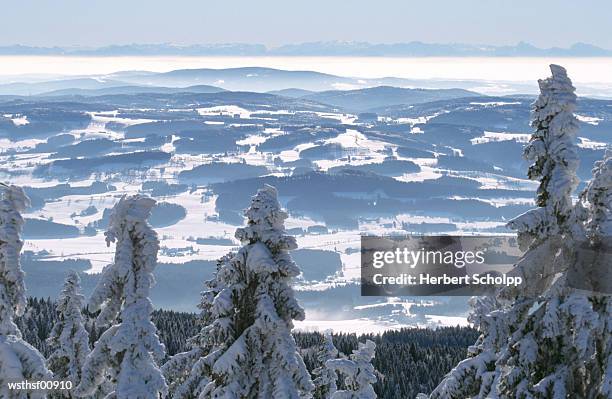
{"label": "small slim snowy spruce just left of the bent-topped tree", "polygon": [[[56,379],[71,381],[73,386],[79,384],[81,369],[91,351],[89,333],[85,329],[81,313],[84,304],[81,279],[75,271],[70,271],[57,301],[59,320],[47,338],[49,348],[52,350],[47,363]],[[68,398],[74,397],[69,390],[59,393],[58,396],[62,395]]]}

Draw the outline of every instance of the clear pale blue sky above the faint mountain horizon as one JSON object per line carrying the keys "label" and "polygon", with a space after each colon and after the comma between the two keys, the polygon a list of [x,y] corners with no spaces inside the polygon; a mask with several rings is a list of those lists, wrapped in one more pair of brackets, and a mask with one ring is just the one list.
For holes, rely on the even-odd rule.
{"label": "clear pale blue sky above the faint mountain horizon", "polygon": [[0,45],[354,40],[612,48],[610,0],[10,0]]}

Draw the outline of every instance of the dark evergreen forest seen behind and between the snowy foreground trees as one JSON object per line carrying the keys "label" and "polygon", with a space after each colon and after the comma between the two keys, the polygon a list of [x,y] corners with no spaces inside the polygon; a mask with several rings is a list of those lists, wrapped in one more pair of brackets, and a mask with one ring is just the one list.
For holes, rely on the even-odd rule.
{"label": "dark evergreen forest seen behind and between the snowy foreground trees", "polygon": [[[94,327],[95,315],[84,311],[90,341],[97,340],[100,331]],[[46,338],[57,321],[55,302],[51,299],[29,298],[28,311],[18,318],[17,325],[24,339],[45,357],[49,355]],[[187,339],[199,329],[198,315],[169,310],[156,310],[153,322],[168,356],[187,350]],[[376,342],[374,367],[378,382],[374,389],[381,399],[414,398],[419,392],[430,393],[457,363],[466,357],[478,333],[471,328],[444,327],[433,329],[402,329],[383,334],[334,334],[334,344],[343,354],[350,354],[358,342]],[[318,367],[317,351],[323,335],[317,332],[294,334],[309,370]]]}

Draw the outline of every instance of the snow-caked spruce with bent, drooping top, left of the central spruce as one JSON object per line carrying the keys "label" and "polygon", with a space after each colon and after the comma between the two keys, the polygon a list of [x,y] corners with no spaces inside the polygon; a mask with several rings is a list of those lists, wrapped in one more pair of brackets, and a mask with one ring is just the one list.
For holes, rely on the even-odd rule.
{"label": "snow-caked spruce with bent, drooping top, left of the central spruce", "polygon": [[124,196],[113,208],[106,234],[116,242],[115,261],[104,268],[88,304],[100,310],[98,327],[111,325],[87,356],[76,393],[89,397],[107,379],[114,384],[109,398],[150,399],[168,387],[157,366],[165,348],[151,322],[149,291],[154,283],[159,240],[147,222],[155,201]]}

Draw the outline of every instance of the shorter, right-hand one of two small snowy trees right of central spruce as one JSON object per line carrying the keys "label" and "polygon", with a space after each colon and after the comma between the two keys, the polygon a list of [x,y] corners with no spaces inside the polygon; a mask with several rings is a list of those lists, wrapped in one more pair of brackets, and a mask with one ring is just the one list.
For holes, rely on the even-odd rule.
{"label": "shorter, right-hand one of two small snowy trees right of central spruce", "polygon": [[338,390],[331,396],[332,399],[375,399],[376,393],[372,384],[376,382],[376,370],[372,359],[376,351],[376,344],[367,340],[359,343],[349,359],[332,359],[325,362],[325,366],[344,376],[346,390]]}

